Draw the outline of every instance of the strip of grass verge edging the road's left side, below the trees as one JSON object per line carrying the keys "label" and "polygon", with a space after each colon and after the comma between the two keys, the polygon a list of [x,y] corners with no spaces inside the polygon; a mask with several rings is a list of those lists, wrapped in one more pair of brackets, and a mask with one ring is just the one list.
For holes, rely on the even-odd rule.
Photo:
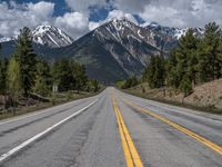
{"label": "strip of grass verge edging the road's left side, below the trees", "polygon": [[27,107],[19,107],[16,112],[13,111],[3,111],[0,114],[0,120],[2,119],[7,119],[7,118],[12,118],[12,117],[18,117],[21,115],[26,115],[26,114],[31,114],[38,110],[42,110],[46,108],[50,108],[50,107],[54,107],[58,105],[62,105],[69,101],[73,101],[73,100],[78,100],[78,99],[82,99],[82,98],[88,98],[88,97],[92,97],[95,96],[98,94],[100,94],[103,89],[101,89],[98,92],[80,92],[80,94],[67,94],[67,95],[62,95],[60,97],[56,97],[53,99],[53,101],[50,102],[39,102],[32,106],[27,106]]}

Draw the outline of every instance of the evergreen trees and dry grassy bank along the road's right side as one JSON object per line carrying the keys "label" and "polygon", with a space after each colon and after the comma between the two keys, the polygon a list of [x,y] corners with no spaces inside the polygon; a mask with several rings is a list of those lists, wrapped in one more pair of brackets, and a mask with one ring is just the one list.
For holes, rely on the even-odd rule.
{"label": "evergreen trees and dry grassy bank along the road's right side", "polygon": [[[214,104],[213,100],[218,104],[222,102],[220,78],[222,78],[222,30],[215,22],[211,22],[205,26],[205,32],[201,38],[198,38],[193,30],[189,29],[186,35],[181,37],[169,58],[163,55],[151,57],[142,78],[138,82],[139,86],[134,90],[138,90],[140,92],[138,95],[142,97],[183,105],[190,104],[218,111],[222,110],[222,107]],[[122,81],[122,85],[118,82],[118,87],[128,90],[135,87],[134,85],[129,86],[127,82],[127,80]],[[213,84],[205,87],[204,84],[208,82]],[[208,89],[211,89],[212,86],[220,90],[211,89],[214,91],[213,95],[212,92],[211,96],[205,95],[209,100],[203,104],[201,101],[204,97],[195,92],[196,89],[201,89],[201,86],[205,88],[205,90],[202,89],[202,92],[200,91],[202,95],[204,95],[204,91],[210,94]],[[151,90],[155,94],[161,92],[162,96],[155,96]],[[221,95],[215,96],[218,94]],[[178,97],[179,95],[182,95],[181,98]],[[189,97],[194,99],[188,100]]]}

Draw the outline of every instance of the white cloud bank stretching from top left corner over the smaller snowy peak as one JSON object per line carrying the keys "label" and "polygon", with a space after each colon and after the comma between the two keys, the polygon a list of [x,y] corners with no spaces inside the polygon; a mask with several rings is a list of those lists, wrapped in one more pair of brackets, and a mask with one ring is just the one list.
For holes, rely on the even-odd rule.
{"label": "white cloud bank stretching from top left corner over the smaller snowy peak", "polygon": [[54,3],[40,1],[19,4],[16,1],[0,2],[0,35],[12,37],[23,27],[36,28],[39,24],[52,24],[64,30],[72,38],[89,31],[89,17],[82,12],[67,12],[53,17]]}

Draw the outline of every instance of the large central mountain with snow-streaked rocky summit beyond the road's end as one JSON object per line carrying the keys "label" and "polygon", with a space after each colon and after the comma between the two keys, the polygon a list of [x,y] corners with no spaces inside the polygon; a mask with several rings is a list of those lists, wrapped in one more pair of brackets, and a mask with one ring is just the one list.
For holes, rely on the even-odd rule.
{"label": "large central mountain with snow-streaked rocky summit beyond the road's end", "polygon": [[160,55],[151,40],[147,29],[114,19],[74,41],[65,52],[84,63],[90,77],[113,82],[141,75],[149,58]]}

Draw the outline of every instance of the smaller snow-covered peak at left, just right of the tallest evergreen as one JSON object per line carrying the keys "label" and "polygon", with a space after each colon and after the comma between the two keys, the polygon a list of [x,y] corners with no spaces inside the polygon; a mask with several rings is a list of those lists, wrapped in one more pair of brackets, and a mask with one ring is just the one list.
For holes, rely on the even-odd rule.
{"label": "smaller snow-covered peak at left, just right of the tallest evergreen", "polygon": [[33,41],[50,48],[69,46],[73,39],[61,29],[52,26],[39,26],[33,31]]}

